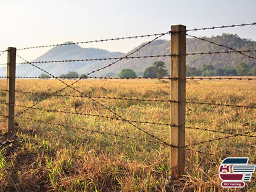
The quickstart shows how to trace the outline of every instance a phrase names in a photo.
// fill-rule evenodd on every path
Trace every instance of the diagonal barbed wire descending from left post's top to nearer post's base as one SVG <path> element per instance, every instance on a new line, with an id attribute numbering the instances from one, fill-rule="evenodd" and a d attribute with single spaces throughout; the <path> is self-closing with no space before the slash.
<path id="1" fill-rule="evenodd" d="M 156 38 L 155 38 L 155 39 L 156 39 Z M 20 57 L 20 56 L 19 56 L 19 57 Z M 22 57 L 20 57 L 20 58 L 23 59 Z M 23 60 L 24 60 L 24 59 L 23 59 Z M 24 61 L 27 62 L 26 60 L 24 60 Z M 48 72 L 45 71 L 44 69 L 41 69 L 40 67 L 38 67 L 38 66 L 36 66 L 36 65 L 34 65 L 34 64 L 30 64 L 30 65 L 32 65 L 32 66 L 34 66 L 35 68 L 38 68 L 38 69 L 40 69 L 41 71 L 44 71 L 44 73 L 47 73 L 47 74 L 49 74 L 50 76 L 54 77 L 52 74 L 48 73 Z M 58 79 L 58 78 L 57 78 L 57 79 Z M 77 91 L 78 93 L 83 94 L 84 96 L 87 96 L 87 94 L 82 93 L 82 92 L 79 91 L 79 90 L 76 90 L 76 88 L 71 87 L 71 85 L 66 84 L 63 80 L 61 80 L 61 79 L 58 79 L 58 80 L 59 80 L 60 82 L 62 82 L 63 84 L 65 84 L 66 87 L 69 87 L 69 88 L 73 89 L 74 91 Z M 105 109 L 108 110 L 109 112 L 112 112 L 114 115 L 118 116 L 118 118 L 123 119 L 123 121 L 126 121 L 126 122 L 129 123 L 131 126 L 135 127 L 136 129 L 140 130 L 141 132 L 144 132 L 146 135 L 149 135 L 150 137 L 155 138 L 156 140 L 161 141 L 162 143 L 167 144 L 167 145 L 169 145 L 169 146 L 177 147 L 177 146 L 171 145 L 171 144 L 169 144 L 169 143 L 166 143 L 166 141 L 163 141 L 161 138 L 158 138 L 158 137 L 156 137 L 155 135 L 152 135 L 151 133 L 147 132 L 146 130 L 143 130 L 143 129 L 141 129 L 140 127 L 136 126 L 135 124 L 133 124 L 133 123 L 127 121 L 127 119 L 123 118 L 123 116 L 118 115 L 116 112 L 114 112 L 114 111 L 111 110 L 110 108 L 105 107 L 105 105 L 101 104 L 101 102 L 96 101 L 96 100 L 93 99 L 93 98 L 90 98 L 90 99 L 91 99 L 91 101 L 96 102 L 96 104 L 101 105 L 103 108 L 105 108 Z"/>

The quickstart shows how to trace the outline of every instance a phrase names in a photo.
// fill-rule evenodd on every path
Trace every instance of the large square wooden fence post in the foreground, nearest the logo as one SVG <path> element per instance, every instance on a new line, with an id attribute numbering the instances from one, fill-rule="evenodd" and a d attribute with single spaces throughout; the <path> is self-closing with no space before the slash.
<path id="1" fill-rule="evenodd" d="M 185 146 L 186 26 L 171 26 L 171 130 L 170 143 Z M 185 173 L 185 149 L 170 147 L 172 176 Z"/>

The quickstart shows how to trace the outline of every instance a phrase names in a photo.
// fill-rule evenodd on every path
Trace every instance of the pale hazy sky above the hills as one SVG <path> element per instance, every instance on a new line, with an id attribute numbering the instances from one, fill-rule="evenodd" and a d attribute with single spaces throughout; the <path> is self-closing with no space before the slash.
<path id="1" fill-rule="evenodd" d="M 167 32 L 171 25 L 187 29 L 256 21 L 255 0 L 152 1 L 152 0 L 0 0 L 0 51 L 9 46 L 56 44 Z M 210 37 L 238 34 L 256 40 L 256 26 L 190 32 Z M 169 40 L 169 35 L 164 37 Z M 82 47 L 128 52 L 151 38 L 81 44 Z M 19 51 L 27 60 L 49 49 Z M 0 62 L 6 62 L 6 54 Z"/>

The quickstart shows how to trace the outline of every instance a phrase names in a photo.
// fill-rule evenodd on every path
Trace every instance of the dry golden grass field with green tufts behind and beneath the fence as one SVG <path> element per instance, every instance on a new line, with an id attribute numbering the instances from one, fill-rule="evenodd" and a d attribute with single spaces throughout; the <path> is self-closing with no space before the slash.
<path id="1" fill-rule="evenodd" d="M 0 88 L 5 86 L 6 80 L 1 80 Z M 90 98 L 52 96 L 44 99 L 46 93 L 62 87 L 65 86 L 57 80 L 16 80 L 17 91 L 38 93 L 15 93 L 16 104 L 30 106 L 43 99 L 35 107 L 115 118 Z M 74 87 L 89 96 L 137 99 L 166 100 L 170 91 L 167 80 L 81 80 Z M 57 94 L 79 96 L 70 88 Z M 255 95 L 254 80 L 187 82 L 187 101 L 256 106 Z M 4 91 L 0 96 L 0 101 L 5 102 Z M 95 100 L 129 120 L 170 123 L 168 102 Z M 16 106 L 15 113 L 24 109 Z M 5 105 L 0 105 L 0 111 L 5 111 Z M 256 129 L 256 109 L 187 104 L 186 111 L 186 126 L 232 133 Z M 27 110 L 15 121 L 20 141 L 13 144 L 12 149 L 1 148 L 0 152 L 2 191 L 226 191 L 221 188 L 218 176 L 224 157 L 249 157 L 250 164 L 256 163 L 255 137 L 230 137 L 188 147 L 194 151 L 186 151 L 186 173 L 175 179 L 169 177 L 169 148 L 144 141 L 155 140 L 127 122 L 38 109 Z M 169 142 L 169 126 L 135 124 Z M 0 125 L 4 127 L 3 117 Z M 186 144 L 224 136 L 227 134 L 186 129 Z M 244 189 L 233 191 L 255 190 L 254 173 Z"/>

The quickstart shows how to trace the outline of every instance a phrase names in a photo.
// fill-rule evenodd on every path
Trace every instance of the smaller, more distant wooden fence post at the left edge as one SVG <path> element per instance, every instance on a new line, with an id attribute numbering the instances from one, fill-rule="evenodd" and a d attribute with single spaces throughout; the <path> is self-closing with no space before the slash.
<path id="1" fill-rule="evenodd" d="M 6 123 L 8 132 L 14 130 L 14 104 L 15 104 L 15 71 L 16 71 L 16 48 L 8 48 L 7 57 L 7 93 L 6 93 Z"/>

